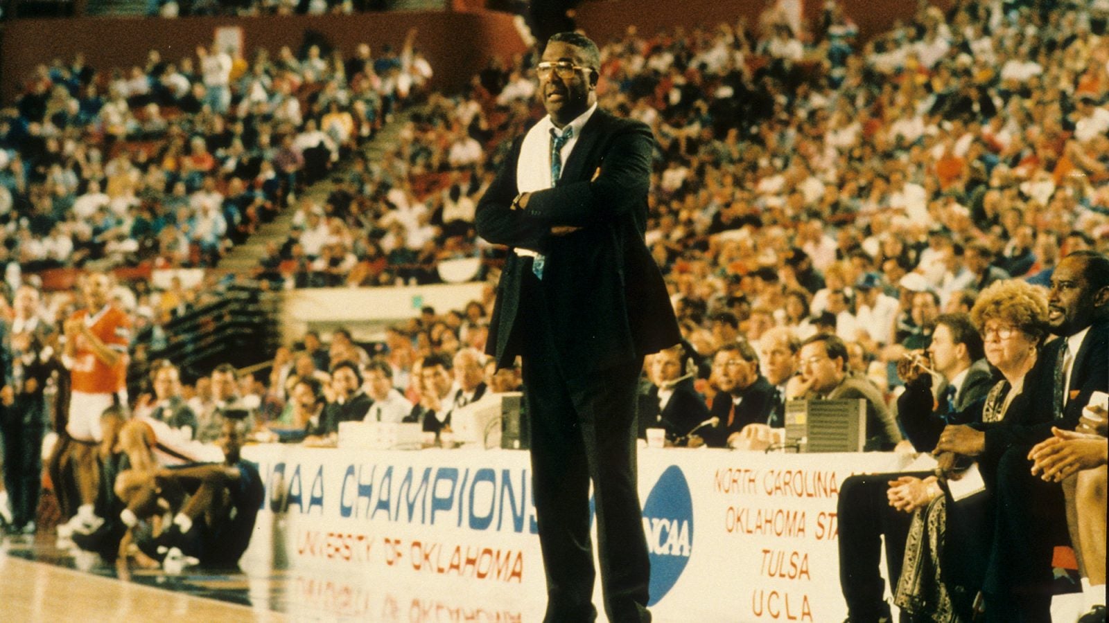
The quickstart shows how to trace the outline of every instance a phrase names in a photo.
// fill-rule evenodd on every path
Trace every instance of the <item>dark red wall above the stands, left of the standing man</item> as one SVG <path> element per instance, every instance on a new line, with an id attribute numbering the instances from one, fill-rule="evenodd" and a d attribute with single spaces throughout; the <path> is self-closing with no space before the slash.
<path id="1" fill-rule="evenodd" d="M 34 67 L 82 51 L 93 68 L 104 71 L 143 64 L 155 48 L 162 58 L 177 61 L 192 55 L 200 43 L 211 44 L 214 29 L 243 28 L 247 58 L 257 48 L 276 53 L 296 49 L 306 30 L 324 33 L 344 54 L 358 43 L 376 53 L 386 43 L 398 48 L 410 28 L 416 44 L 435 70 L 433 86 L 454 90 L 466 84 L 489 57 L 523 51 L 512 17 L 481 12 L 393 12 L 355 16 L 289 16 L 262 18 L 78 18 L 16 20 L 4 24 L 0 41 L 0 99 L 11 102 Z"/>

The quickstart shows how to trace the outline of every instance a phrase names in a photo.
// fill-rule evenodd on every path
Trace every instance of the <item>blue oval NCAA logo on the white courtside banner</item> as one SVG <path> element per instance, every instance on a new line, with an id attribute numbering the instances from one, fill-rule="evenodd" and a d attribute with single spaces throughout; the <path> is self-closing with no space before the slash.
<path id="1" fill-rule="evenodd" d="M 651 601 L 659 603 L 678 583 L 693 552 L 693 500 L 678 466 L 662 472 L 643 504 L 643 532 L 651 556 Z"/>

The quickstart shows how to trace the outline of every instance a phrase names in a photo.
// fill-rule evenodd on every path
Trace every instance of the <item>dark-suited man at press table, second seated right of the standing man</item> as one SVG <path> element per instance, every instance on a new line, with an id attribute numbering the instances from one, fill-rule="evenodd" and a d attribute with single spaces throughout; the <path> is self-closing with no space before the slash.
<path id="1" fill-rule="evenodd" d="M 701 430 L 706 446 L 725 448 L 739 439 L 743 427 L 770 423 L 774 411 L 774 386 L 759 374 L 759 355 L 745 339 L 726 344 L 712 359 L 716 396 L 711 415 L 720 421 Z"/>

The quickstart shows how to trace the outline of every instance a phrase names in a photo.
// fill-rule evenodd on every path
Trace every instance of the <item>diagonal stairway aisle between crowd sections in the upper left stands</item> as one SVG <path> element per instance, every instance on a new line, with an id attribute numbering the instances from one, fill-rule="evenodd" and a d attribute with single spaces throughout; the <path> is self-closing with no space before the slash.
<path id="1" fill-rule="evenodd" d="M 393 116 L 393 121 L 386 123 L 378 130 L 377 134 L 365 145 L 362 151 L 368 162 L 378 162 L 384 156 L 387 149 L 396 143 L 397 136 L 404 129 L 405 123 L 411 119 L 411 111 L 406 110 Z M 319 205 L 327 201 L 334 184 L 332 176 L 344 172 L 349 163 L 339 163 L 338 167 L 328 173 L 326 177 L 304 190 L 304 195 Z M 296 214 L 297 197 L 293 205 L 285 206 L 284 210 L 269 223 L 262 224 L 257 231 L 241 245 L 232 247 L 216 266 L 221 270 L 235 274 L 252 273 L 266 256 L 266 244 L 274 242 L 281 246 L 288 237 L 289 229 L 293 228 L 293 215 Z"/>

